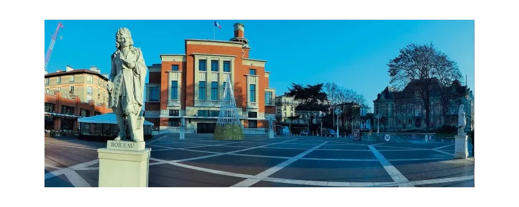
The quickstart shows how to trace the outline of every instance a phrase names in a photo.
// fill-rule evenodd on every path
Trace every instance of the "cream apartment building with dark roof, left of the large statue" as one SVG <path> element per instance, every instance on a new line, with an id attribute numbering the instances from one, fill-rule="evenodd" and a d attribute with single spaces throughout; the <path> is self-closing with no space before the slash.
<path id="1" fill-rule="evenodd" d="M 59 91 L 87 102 L 93 100 L 97 103 L 106 103 L 108 101 L 106 91 L 108 75 L 101 75 L 100 71 L 97 67 L 73 69 L 70 66 L 66 66 L 64 71 L 57 70 L 50 73 L 44 71 L 44 90 L 49 94 Z"/>

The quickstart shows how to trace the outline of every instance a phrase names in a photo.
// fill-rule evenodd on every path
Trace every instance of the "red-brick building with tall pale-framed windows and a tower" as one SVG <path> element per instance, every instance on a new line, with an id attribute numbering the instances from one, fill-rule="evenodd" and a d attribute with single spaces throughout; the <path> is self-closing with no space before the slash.
<path id="1" fill-rule="evenodd" d="M 148 66 L 144 116 L 162 132 L 213 133 L 226 78 L 234 90 L 245 133 L 268 130 L 274 117 L 274 88 L 269 87 L 266 61 L 249 57 L 244 25 L 234 24 L 229 41 L 185 39 L 185 54 L 161 54 L 160 64 Z"/>

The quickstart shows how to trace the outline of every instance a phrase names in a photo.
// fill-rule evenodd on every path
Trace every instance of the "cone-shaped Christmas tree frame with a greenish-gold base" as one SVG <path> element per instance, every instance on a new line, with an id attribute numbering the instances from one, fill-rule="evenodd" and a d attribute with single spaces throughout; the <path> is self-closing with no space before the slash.
<path id="1" fill-rule="evenodd" d="M 236 108 L 236 100 L 234 99 L 233 85 L 230 82 L 230 76 L 226 77 L 224 89 L 224 98 L 218 121 L 214 129 L 214 137 L 216 140 L 243 140 L 243 125 L 240 122 L 240 116 Z"/>

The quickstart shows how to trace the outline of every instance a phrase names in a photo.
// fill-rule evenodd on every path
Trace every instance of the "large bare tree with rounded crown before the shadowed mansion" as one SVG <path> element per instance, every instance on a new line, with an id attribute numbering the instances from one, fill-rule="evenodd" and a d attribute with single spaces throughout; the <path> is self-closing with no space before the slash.
<path id="1" fill-rule="evenodd" d="M 431 92 L 438 85 L 439 73 L 446 68 L 445 57 L 432 43 L 412 43 L 400 49 L 399 56 L 388 63 L 390 84 L 397 89 L 406 87 L 406 97 L 414 97 L 420 108 L 425 109 L 427 130 L 430 129 Z"/>

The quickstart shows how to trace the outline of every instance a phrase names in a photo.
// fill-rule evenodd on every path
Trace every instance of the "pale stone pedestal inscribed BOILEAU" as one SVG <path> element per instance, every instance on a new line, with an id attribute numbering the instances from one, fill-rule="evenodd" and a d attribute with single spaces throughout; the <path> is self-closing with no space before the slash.
<path id="1" fill-rule="evenodd" d="M 149 155 L 145 142 L 107 142 L 98 149 L 99 188 L 147 188 Z"/>

